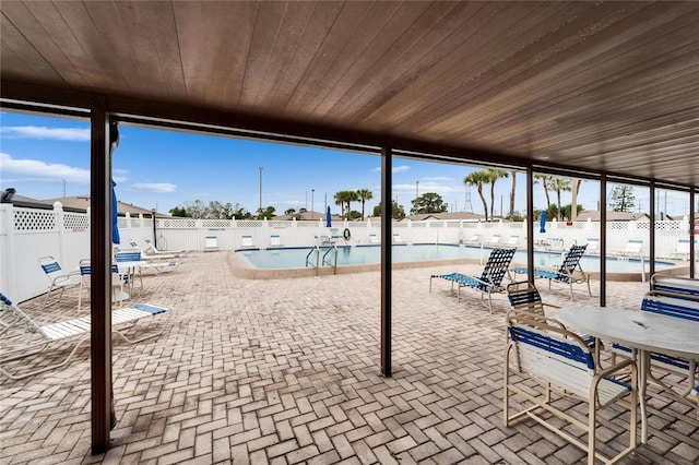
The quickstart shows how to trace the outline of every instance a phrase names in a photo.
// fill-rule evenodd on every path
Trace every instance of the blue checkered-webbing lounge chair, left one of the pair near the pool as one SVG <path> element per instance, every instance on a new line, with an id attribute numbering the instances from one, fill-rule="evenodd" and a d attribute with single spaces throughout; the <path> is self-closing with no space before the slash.
<path id="1" fill-rule="evenodd" d="M 434 274 L 429 277 L 429 291 L 433 290 L 433 279 L 440 278 L 451 282 L 451 289 L 453 291 L 454 283 L 459 286 L 457 289 L 457 297 L 461 300 L 461 288 L 470 287 L 481 291 L 481 298 L 484 295 L 488 295 L 488 308 L 493 313 L 493 294 L 505 291 L 502 287 L 502 278 L 508 273 L 508 267 L 514 257 L 517 249 L 495 248 L 490 251 L 488 262 L 485 264 L 485 269 L 481 276 L 470 276 L 461 273 L 449 274 Z"/>

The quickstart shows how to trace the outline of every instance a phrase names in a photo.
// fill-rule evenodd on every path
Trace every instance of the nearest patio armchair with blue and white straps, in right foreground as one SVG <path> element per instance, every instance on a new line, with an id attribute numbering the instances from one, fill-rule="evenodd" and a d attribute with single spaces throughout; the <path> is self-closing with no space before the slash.
<path id="1" fill-rule="evenodd" d="M 505 390 L 502 413 L 505 426 L 520 418 L 536 420 L 549 431 L 577 448 L 587 451 L 587 463 L 595 458 L 616 463 L 636 451 L 638 428 L 638 369 L 632 360 L 625 360 L 606 369 L 599 367 L 599 358 L 577 334 L 560 329 L 555 321 L 541 321 L 517 313 L 507 318 L 508 341 L 505 351 Z M 621 382 L 620 378 L 630 381 Z M 517 402 L 510 397 L 517 395 Z M 625 402 L 625 397 L 629 397 Z M 561 402 L 562 401 L 562 402 Z M 571 409 L 571 402 L 584 402 L 585 414 Z M 606 448 L 616 454 L 603 456 L 596 448 L 597 409 L 621 403 L 628 408 L 628 446 L 621 451 Z M 516 408 L 516 413 L 510 413 Z M 541 415 L 540 415 L 541 414 Z M 554 415 L 555 419 L 550 416 Z M 577 429 L 587 433 L 580 439 Z M 616 422 L 615 422 L 616 426 Z M 584 442 L 583 442 L 584 441 Z"/>

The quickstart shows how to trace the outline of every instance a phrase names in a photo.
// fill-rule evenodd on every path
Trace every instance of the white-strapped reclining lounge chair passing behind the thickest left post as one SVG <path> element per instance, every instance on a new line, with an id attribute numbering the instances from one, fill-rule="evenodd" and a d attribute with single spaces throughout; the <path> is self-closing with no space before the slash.
<path id="1" fill-rule="evenodd" d="M 90 341 L 91 334 L 91 319 L 90 317 L 82 317 L 72 320 L 61 321 L 59 323 L 40 325 L 36 323 L 32 318 L 20 310 L 20 308 L 12 303 L 12 301 L 5 297 L 2 293 L 0 293 L 0 308 L 3 312 L 9 312 L 13 315 L 14 320 L 7 327 L 4 327 L 0 332 L 0 347 L 5 349 L 7 347 L 14 345 L 21 345 L 21 347 L 16 347 L 13 349 L 2 350 L 0 354 L 0 373 L 3 375 L 13 379 L 21 380 L 23 378 L 27 378 L 37 373 L 42 373 L 44 371 L 54 370 L 56 368 L 60 368 L 68 363 L 71 357 L 75 354 L 78 348 L 85 341 Z M 165 323 L 163 322 L 161 330 L 154 333 L 146 334 L 145 336 L 141 336 L 139 338 L 132 339 L 123 334 L 123 331 L 133 327 L 138 320 L 155 317 L 157 314 L 167 314 L 167 319 L 171 317 L 171 311 L 168 308 L 156 306 L 153 303 L 137 303 L 127 308 L 121 308 L 118 310 L 111 311 L 111 325 L 112 327 L 121 326 L 128 324 L 128 326 L 120 330 L 112 330 L 115 334 L 119 335 L 126 342 L 130 344 L 140 343 L 145 339 L 150 339 L 152 337 L 158 336 L 165 330 Z M 25 331 L 14 331 L 19 330 L 20 326 L 24 326 Z M 44 350 L 50 343 L 59 342 L 63 339 L 74 338 L 75 345 L 70 350 L 68 356 L 61 360 L 60 362 L 52 363 L 49 366 L 43 366 L 33 371 L 16 373 L 9 371 L 8 362 L 13 360 L 20 360 L 25 357 L 36 355 Z"/>

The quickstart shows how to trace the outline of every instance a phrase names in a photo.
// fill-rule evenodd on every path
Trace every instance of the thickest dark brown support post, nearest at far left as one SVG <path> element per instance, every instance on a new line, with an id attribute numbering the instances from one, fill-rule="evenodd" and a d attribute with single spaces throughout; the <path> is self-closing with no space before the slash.
<path id="1" fill-rule="evenodd" d="M 106 98 L 91 108 L 91 383 L 92 453 L 109 449 L 111 406 L 111 164 Z"/>

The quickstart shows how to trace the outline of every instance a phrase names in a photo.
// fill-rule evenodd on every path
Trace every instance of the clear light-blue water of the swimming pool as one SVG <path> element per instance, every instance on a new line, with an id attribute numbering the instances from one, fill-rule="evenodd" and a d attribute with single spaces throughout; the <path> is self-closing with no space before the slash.
<path id="1" fill-rule="evenodd" d="M 321 249 L 321 258 L 328 248 Z M 360 247 L 339 247 L 337 248 L 337 265 L 362 265 L 380 263 L 379 246 L 360 246 Z M 250 264 L 258 269 L 303 269 L 306 267 L 306 257 L 311 248 L 286 248 L 286 249 L 266 249 L 266 250 L 237 250 L 238 255 L 244 257 Z M 481 259 L 487 260 L 490 248 L 484 247 L 464 247 L 455 245 L 408 245 L 393 246 L 393 262 L 420 262 L 430 260 L 449 260 L 449 259 Z M 332 257 L 330 252 L 328 257 Z M 311 254 L 315 262 L 315 253 Z M 534 252 L 534 264 L 536 266 L 557 266 L 560 263 L 560 252 Z M 526 263 L 526 251 L 518 250 L 514 253 L 514 263 Z M 580 260 L 582 270 L 587 272 L 600 271 L 600 258 L 595 255 L 584 255 Z M 673 266 L 672 262 L 655 262 L 655 269 Z M 648 262 L 645 262 L 648 270 Z M 640 273 L 641 263 L 638 259 L 618 259 L 607 257 L 608 273 Z"/>

